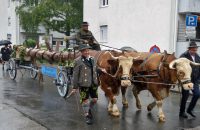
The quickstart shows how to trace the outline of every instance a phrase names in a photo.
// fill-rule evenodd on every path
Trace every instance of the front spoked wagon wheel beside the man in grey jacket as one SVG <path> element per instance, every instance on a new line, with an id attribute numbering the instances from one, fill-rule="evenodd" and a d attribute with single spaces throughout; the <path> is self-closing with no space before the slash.
<path id="1" fill-rule="evenodd" d="M 62 71 L 58 73 L 56 86 L 60 96 L 65 98 L 69 92 L 69 84 L 68 79 Z"/>

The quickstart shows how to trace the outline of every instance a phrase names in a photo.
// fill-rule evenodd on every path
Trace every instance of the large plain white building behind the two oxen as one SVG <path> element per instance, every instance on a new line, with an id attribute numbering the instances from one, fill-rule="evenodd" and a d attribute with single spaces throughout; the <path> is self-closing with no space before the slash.
<path id="1" fill-rule="evenodd" d="M 188 45 L 185 16 L 200 12 L 197 5 L 199 0 L 84 0 L 84 21 L 100 43 L 138 51 L 157 45 L 179 56 Z"/>

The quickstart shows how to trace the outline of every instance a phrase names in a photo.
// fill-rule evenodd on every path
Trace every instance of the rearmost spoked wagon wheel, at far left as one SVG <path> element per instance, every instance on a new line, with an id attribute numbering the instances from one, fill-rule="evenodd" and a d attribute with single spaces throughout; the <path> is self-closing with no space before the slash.
<path id="1" fill-rule="evenodd" d="M 9 68 L 8 68 L 9 76 L 12 80 L 14 80 L 17 76 L 17 68 L 15 64 L 15 60 L 9 60 Z"/>

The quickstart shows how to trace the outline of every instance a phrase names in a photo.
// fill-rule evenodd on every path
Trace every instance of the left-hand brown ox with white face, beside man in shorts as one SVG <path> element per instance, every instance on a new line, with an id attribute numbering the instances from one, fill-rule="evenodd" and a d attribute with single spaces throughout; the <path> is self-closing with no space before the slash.
<path id="1" fill-rule="evenodd" d="M 101 51 L 96 54 L 95 59 L 100 68 L 105 68 L 106 73 L 99 75 L 101 89 L 108 97 L 108 112 L 113 116 L 119 116 L 120 112 L 116 105 L 116 95 L 120 87 L 131 86 L 131 68 L 136 58 L 127 56 L 126 53 L 115 51 Z"/>

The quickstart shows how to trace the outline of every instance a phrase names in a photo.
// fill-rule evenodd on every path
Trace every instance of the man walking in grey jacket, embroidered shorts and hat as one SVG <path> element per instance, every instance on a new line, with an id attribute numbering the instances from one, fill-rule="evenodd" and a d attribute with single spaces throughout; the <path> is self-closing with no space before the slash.
<path id="1" fill-rule="evenodd" d="M 97 68 L 94 58 L 90 56 L 89 49 L 91 49 L 91 47 L 87 44 L 80 44 L 79 46 L 81 56 L 75 59 L 73 70 L 74 86 L 72 92 L 76 92 L 77 89 L 79 89 L 80 102 L 85 113 L 86 123 L 92 124 L 93 116 L 91 109 L 96 104 L 98 99 L 97 74 L 100 74 L 100 72 L 105 72 L 105 69 Z"/>

